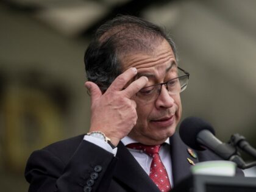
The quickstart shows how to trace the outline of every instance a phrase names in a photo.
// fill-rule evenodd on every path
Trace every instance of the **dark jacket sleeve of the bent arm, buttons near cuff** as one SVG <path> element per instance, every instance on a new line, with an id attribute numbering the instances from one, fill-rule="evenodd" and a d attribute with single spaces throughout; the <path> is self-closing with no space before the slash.
<path id="1" fill-rule="evenodd" d="M 34 191 L 107 191 L 117 158 L 88 141 L 82 141 L 67 163 L 48 148 L 33 152 L 25 177 Z"/>

